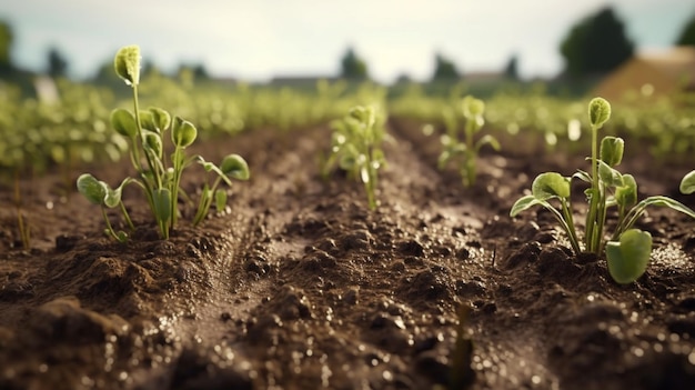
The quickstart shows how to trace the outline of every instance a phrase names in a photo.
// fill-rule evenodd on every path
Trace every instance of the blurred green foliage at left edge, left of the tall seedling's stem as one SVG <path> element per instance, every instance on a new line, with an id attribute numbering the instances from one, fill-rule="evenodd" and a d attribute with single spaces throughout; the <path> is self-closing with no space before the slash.
<path id="1" fill-rule="evenodd" d="M 52 81 L 44 80 L 53 86 Z M 0 86 L 0 173 L 41 174 L 79 163 L 114 162 L 128 148 L 104 118 L 113 96 L 98 88 L 58 80 L 58 100 L 21 99 Z"/>

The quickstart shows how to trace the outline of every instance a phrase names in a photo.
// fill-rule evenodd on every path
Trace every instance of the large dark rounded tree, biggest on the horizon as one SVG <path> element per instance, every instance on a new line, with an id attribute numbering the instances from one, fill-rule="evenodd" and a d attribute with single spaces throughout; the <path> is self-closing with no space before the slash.
<path id="1" fill-rule="evenodd" d="M 560 52 L 565 72 L 581 77 L 605 73 L 629 59 L 634 44 L 611 7 L 581 20 L 563 39 Z"/>

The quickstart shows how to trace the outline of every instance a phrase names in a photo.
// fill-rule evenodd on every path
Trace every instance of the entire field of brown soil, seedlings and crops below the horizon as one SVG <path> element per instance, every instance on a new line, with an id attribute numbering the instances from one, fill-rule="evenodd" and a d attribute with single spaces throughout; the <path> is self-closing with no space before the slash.
<path id="1" fill-rule="evenodd" d="M 0 389 L 692 389 L 695 106 L 0 84 Z"/>

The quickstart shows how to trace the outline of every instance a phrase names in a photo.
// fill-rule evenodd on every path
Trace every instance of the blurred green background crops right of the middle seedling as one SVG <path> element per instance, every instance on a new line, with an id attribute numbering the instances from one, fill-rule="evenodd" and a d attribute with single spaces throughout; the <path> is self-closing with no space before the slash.
<path id="1" fill-rule="evenodd" d="M 414 86 L 395 100 L 389 111 L 421 122 L 449 127 L 447 121 L 463 122 L 456 110 L 465 86 L 451 89 L 449 96 L 429 96 Z M 687 158 L 695 151 L 695 102 L 692 97 L 646 99 L 633 97 L 616 101 L 615 114 L 604 131 L 649 146 L 657 158 Z M 486 99 L 485 120 L 490 128 L 505 137 L 523 136 L 515 144 L 537 140 L 547 148 L 584 150 L 590 123 L 583 99 L 558 98 L 545 93 L 542 86 L 530 91 L 503 90 Z M 507 142 L 508 143 L 508 142 Z"/>

